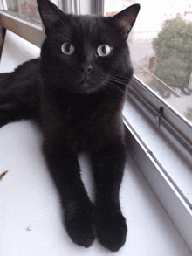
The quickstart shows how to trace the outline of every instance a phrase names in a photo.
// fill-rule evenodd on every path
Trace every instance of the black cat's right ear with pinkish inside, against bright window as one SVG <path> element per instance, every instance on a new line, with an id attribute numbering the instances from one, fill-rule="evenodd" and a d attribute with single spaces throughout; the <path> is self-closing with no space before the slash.
<path id="1" fill-rule="evenodd" d="M 125 39 L 127 39 L 131 31 L 139 11 L 140 4 L 134 4 L 112 17 L 113 23 L 117 24 L 123 31 L 123 37 Z"/>

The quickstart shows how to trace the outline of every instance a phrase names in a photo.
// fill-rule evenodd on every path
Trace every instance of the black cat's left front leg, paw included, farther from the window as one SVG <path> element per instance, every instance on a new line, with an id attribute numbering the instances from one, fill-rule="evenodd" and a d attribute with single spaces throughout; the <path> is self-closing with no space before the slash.
<path id="1" fill-rule="evenodd" d="M 93 204 L 81 181 L 77 156 L 58 148 L 46 142 L 44 152 L 65 210 L 65 227 L 75 244 L 89 247 L 94 240 Z"/>

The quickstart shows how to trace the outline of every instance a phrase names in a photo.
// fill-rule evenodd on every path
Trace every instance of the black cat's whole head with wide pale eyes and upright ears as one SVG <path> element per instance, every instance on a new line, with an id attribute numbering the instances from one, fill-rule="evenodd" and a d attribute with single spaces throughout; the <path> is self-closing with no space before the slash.
<path id="1" fill-rule="evenodd" d="M 127 47 L 139 4 L 113 17 L 74 16 L 38 0 L 47 38 L 41 57 L 47 82 L 70 93 L 123 86 L 133 74 Z"/>

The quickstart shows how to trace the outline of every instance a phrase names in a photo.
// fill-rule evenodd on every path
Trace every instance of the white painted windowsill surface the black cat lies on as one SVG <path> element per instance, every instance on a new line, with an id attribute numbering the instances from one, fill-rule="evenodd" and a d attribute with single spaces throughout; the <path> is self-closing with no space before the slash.
<path id="1" fill-rule="evenodd" d="M 12 70 L 31 55 L 32 58 L 38 55 L 35 51 L 34 55 L 25 55 L 24 46 L 17 54 L 18 49 L 16 52 L 10 49 L 10 33 L 7 38 L 1 72 Z M 57 190 L 46 168 L 41 143 L 41 133 L 31 121 L 10 123 L 0 129 L 0 174 L 8 170 L 0 182 L 1 256 L 192 255 L 129 158 L 120 192 L 129 230 L 126 245 L 118 253 L 107 251 L 97 240 L 88 249 L 74 245 L 62 225 Z M 93 197 L 86 156 L 80 157 L 80 163 L 86 189 Z"/>

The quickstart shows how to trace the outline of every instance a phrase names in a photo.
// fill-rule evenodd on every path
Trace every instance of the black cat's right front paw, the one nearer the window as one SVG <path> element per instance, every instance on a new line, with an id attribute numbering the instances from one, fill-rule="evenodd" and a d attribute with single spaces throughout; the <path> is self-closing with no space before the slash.
<path id="1" fill-rule="evenodd" d="M 126 242 L 127 224 L 126 218 L 120 211 L 111 212 L 108 215 L 96 211 L 95 230 L 99 243 L 112 252 L 119 251 Z"/>

